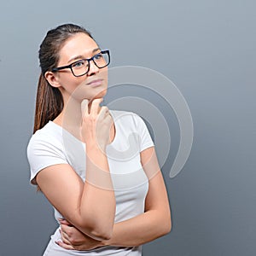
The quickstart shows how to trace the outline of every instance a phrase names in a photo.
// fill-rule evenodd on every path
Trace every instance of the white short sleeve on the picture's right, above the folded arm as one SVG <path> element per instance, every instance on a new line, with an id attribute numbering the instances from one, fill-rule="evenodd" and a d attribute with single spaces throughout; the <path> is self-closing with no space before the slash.
<path id="1" fill-rule="evenodd" d="M 150 137 L 148 127 L 143 121 L 143 119 L 136 114 L 137 120 L 137 132 L 140 137 L 140 152 L 142 152 L 146 148 L 154 147 L 154 142 Z"/>

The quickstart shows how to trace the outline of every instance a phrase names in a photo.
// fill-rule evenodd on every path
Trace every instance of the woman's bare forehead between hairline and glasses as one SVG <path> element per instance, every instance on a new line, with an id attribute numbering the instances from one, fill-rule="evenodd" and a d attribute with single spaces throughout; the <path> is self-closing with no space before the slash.
<path id="1" fill-rule="evenodd" d="M 90 57 L 93 49 L 97 47 L 96 42 L 85 33 L 74 34 L 62 45 L 59 51 L 59 62 L 68 61 L 76 55 L 83 55 L 84 58 Z"/>

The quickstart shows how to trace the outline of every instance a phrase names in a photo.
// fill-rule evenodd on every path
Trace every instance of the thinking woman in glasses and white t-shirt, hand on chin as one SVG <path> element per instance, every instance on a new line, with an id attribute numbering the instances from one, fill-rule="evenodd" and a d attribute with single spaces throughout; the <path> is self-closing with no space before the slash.
<path id="1" fill-rule="evenodd" d="M 60 224 L 44 255 L 142 255 L 171 230 L 171 213 L 143 119 L 101 106 L 109 51 L 65 24 L 47 33 L 39 61 L 27 156 Z"/>

